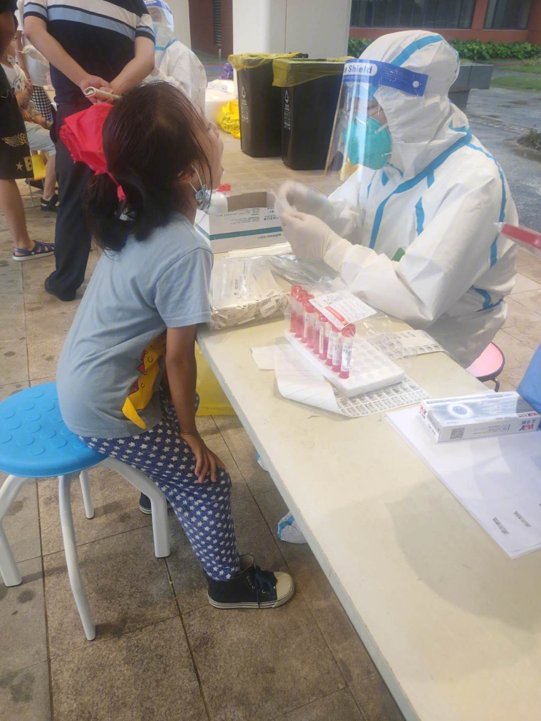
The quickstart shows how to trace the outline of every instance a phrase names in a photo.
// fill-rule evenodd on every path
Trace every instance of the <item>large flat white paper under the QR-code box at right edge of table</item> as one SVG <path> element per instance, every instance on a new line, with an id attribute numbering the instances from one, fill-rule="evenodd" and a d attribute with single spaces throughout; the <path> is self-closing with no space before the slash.
<path id="1" fill-rule="evenodd" d="M 541 549 L 541 432 L 434 443 L 418 413 L 387 420 L 506 554 Z"/>

